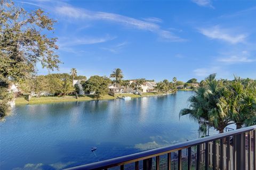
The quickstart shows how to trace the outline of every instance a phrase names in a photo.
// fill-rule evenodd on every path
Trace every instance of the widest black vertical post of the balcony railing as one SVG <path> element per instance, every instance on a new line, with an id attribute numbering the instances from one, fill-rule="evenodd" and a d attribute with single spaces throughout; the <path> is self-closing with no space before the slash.
<path id="1" fill-rule="evenodd" d="M 244 133 L 237 134 L 235 140 L 236 169 L 244 169 Z"/>

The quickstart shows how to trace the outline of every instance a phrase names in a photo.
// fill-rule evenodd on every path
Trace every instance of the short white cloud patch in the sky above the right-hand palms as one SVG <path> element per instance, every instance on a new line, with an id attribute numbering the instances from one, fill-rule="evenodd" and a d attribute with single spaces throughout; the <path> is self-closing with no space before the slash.
<path id="1" fill-rule="evenodd" d="M 246 38 L 245 34 L 231 35 L 230 32 L 232 30 L 222 29 L 219 25 L 210 28 L 201 28 L 199 31 L 206 37 L 227 41 L 231 44 L 244 43 Z"/>

